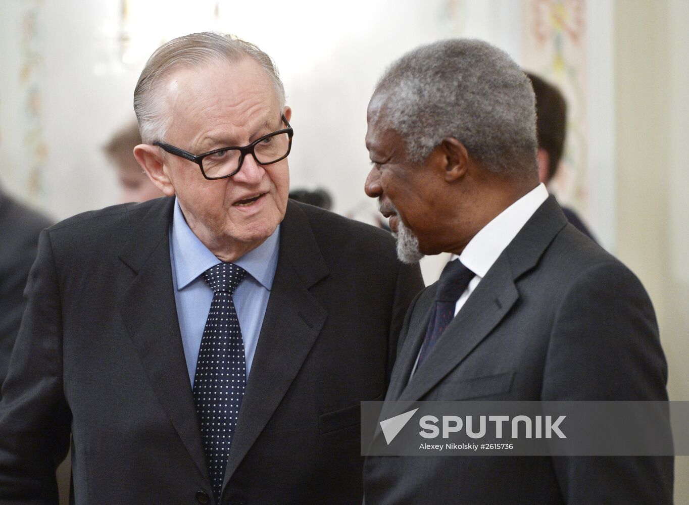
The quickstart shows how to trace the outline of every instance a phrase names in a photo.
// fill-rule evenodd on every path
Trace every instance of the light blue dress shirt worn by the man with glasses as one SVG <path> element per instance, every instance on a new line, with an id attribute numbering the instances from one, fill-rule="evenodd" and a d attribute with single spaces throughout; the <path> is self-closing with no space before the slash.
<path id="1" fill-rule="evenodd" d="M 203 279 L 203 272 L 218 265 L 220 260 L 194 235 L 176 200 L 169 236 L 177 318 L 182 333 L 189 380 L 193 388 L 198 349 L 201 346 L 203 328 L 213 301 L 213 291 Z M 280 226 L 263 244 L 234 261 L 235 265 L 247 271 L 247 276 L 232 296 L 244 340 L 247 379 L 251 371 L 251 362 L 254 361 L 270 290 L 273 287 L 275 269 L 278 266 L 279 245 Z"/>

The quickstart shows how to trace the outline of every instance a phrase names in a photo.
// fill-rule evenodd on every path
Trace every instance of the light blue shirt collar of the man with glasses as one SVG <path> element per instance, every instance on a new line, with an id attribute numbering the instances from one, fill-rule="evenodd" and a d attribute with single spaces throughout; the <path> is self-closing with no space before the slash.
<path id="1" fill-rule="evenodd" d="M 170 239 L 172 240 L 174 275 L 176 276 L 178 291 L 187 287 L 190 282 L 207 269 L 220 263 L 220 260 L 198 240 L 198 237 L 189 228 L 176 198 Z M 275 269 L 278 265 L 279 245 L 280 226 L 278 225 L 263 244 L 234 261 L 234 265 L 245 269 L 247 274 L 270 291 L 273 287 Z"/>

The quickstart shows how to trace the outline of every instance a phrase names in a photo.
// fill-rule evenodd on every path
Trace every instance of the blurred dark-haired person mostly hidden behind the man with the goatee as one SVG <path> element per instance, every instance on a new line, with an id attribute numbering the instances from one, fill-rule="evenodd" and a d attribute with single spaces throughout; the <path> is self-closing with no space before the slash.
<path id="1" fill-rule="evenodd" d="M 538 178 L 548 186 L 559 168 L 567 136 L 567 102 L 560 90 L 545 79 L 526 72 L 536 96 L 536 134 L 538 138 Z M 593 234 L 576 212 L 560 205 L 567 220 L 595 241 Z"/>

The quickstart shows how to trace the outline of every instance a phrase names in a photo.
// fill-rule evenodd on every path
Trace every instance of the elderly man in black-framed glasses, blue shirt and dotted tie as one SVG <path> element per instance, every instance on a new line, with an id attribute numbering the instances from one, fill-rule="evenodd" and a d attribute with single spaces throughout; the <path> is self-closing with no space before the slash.
<path id="1" fill-rule="evenodd" d="M 136 159 L 167 196 L 41 236 L 0 404 L 0 502 L 359 504 L 360 402 L 382 399 L 422 288 L 393 238 L 289 201 L 278 72 L 245 41 L 159 48 Z"/>

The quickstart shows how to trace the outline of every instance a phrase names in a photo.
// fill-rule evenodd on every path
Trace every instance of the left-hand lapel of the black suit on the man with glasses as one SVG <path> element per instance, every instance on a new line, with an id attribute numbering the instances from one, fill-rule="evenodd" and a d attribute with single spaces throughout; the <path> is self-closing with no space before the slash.
<path id="1" fill-rule="evenodd" d="M 168 229 L 173 205 L 174 198 L 156 200 L 120 254 L 136 274 L 120 309 L 158 400 L 207 479 L 172 286 Z"/>

